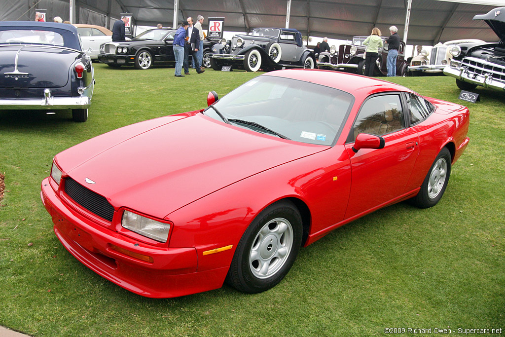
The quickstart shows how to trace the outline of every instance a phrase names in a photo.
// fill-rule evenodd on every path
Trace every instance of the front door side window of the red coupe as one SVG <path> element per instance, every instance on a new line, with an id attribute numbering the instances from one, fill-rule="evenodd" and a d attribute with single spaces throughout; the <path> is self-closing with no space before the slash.
<path id="1" fill-rule="evenodd" d="M 383 135 L 405 127 L 401 111 L 400 96 L 382 95 L 368 99 L 361 107 L 354 123 L 354 134 L 348 140 L 354 141 L 360 133 Z"/>

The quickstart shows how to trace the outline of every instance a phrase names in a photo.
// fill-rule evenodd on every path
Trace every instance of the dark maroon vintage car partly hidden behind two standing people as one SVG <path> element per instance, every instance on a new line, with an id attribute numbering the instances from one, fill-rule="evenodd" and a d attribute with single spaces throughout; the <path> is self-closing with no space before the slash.
<path id="1" fill-rule="evenodd" d="M 355 36 L 352 42 L 341 44 L 338 51 L 335 47 L 330 48 L 330 52 L 323 52 L 319 55 L 319 69 L 333 69 L 363 75 L 365 73 L 365 50 L 363 42 L 368 36 Z M 387 37 L 382 36 L 383 47 L 379 49 L 374 76 L 386 76 L 387 67 Z M 398 57 L 396 59 L 396 75 L 407 75 L 408 63 L 405 61 L 405 42 L 400 41 Z"/>

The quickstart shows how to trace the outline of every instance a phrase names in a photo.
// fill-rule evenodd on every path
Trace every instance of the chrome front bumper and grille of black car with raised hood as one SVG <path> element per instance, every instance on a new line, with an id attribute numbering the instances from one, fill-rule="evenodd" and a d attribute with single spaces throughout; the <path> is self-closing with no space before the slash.
<path id="1" fill-rule="evenodd" d="M 443 73 L 460 81 L 481 85 L 485 88 L 505 90 L 505 68 L 495 63 L 476 58 L 451 60 Z"/>

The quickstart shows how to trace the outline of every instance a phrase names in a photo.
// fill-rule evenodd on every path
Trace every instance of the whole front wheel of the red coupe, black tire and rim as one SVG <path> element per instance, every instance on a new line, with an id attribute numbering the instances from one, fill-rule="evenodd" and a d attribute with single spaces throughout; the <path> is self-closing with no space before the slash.
<path id="1" fill-rule="evenodd" d="M 288 273 L 301 247 L 301 216 L 289 201 L 270 205 L 252 220 L 237 245 L 226 281 L 238 291 L 261 293 Z"/>

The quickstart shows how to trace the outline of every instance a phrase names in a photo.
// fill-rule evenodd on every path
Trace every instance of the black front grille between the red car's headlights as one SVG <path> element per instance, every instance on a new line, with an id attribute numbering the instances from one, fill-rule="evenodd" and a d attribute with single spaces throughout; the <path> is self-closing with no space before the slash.
<path id="1" fill-rule="evenodd" d="M 72 178 L 65 180 L 65 193 L 93 214 L 112 221 L 114 207 L 104 197 L 87 189 Z"/>

